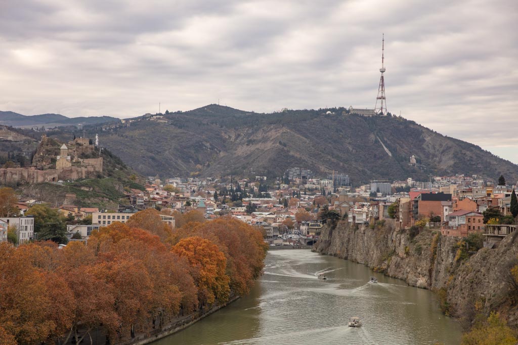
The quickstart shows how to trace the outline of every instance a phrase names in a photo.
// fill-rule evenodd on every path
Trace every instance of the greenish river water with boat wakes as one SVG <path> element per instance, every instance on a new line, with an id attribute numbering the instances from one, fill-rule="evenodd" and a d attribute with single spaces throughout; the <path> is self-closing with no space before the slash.
<path id="1" fill-rule="evenodd" d="M 305 249 L 271 250 L 264 272 L 249 295 L 153 345 L 460 342 L 461 328 L 441 314 L 433 293 L 364 265 Z M 348 327 L 352 316 L 363 325 Z"/>

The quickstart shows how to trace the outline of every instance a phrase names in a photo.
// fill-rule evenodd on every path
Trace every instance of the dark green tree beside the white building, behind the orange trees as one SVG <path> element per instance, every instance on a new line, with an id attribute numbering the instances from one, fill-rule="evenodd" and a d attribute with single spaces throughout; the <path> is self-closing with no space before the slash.
<path id="1" fill-rule="evenodd" d="M 63 244 L 68 242 L 65 222 L 55 209 L 44 204 L 34 205 L 25 215 L 34 216 L 34 233 L 39 240 L 50 239 Z"/>

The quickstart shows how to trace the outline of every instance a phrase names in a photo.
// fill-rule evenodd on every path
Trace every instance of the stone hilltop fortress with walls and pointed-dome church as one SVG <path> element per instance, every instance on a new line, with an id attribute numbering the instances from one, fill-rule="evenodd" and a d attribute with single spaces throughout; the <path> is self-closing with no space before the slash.
<path id="1" fill-rule="evenodd" d="M 24 183 L 56 182 L 66 179 L 95 177 L 103 171 L 103 158 L 96 156 L 91 140 L 77 138 L 62 144 L 43 136 L 38 145 L 32 165 L 24 168 L 0 168 L 0 184 L 19 185 Z"/>

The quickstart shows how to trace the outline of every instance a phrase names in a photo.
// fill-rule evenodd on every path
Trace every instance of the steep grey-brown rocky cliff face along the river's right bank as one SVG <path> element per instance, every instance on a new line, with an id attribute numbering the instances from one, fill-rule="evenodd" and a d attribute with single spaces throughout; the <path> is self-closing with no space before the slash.
<path id="1" fill-rule="evenodd" d="M 325 227 L 313 250 L 366 264 L 411 286 L 438 294 L 445 313 L 469 325 L 477 313 L 500 311 L 518 326 L 518 306 L 509 269 L 518 263 L 518 233 L 498 248 L 468 253 L 458 237 L 439 231 L 396 230 L 393 223 L 375 229 L 340 222 Z"/>

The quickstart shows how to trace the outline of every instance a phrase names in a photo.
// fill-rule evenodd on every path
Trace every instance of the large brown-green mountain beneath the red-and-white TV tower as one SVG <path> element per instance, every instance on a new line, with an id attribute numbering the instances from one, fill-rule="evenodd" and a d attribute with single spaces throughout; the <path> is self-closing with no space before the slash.
<path id="1" fill-rule="evenodd" d="M 102 145 L 144 175 L 279 177 L 300 167 L 320 176 L 349 173 L 355 185 L 455 173 L 518 179 L 516 164 L 479 146 L 401 117 L 365 117 L 344 108 L 259 114 L 211 104 L 85 129 L 90 136 L 99 132 Z"/>

